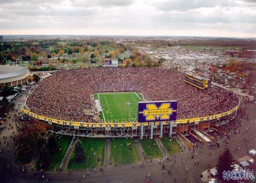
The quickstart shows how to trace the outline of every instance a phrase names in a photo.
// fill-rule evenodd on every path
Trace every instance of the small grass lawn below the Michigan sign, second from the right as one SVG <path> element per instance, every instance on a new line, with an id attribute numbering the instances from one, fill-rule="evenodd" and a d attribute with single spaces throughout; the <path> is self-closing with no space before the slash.
<path id="1" fill-rule="evenodd" d="M 146 138 L 140 140 L 140 145 L 147 160 L 161 158 L 163 156 L 155 139 Z M 151 155 L 151 157 L 150 157 Z"/>

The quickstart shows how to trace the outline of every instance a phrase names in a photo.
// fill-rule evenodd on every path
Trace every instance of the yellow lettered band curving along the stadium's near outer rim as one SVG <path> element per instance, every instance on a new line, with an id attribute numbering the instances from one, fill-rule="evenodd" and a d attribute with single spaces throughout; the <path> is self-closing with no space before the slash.
<path id="1" fill-rule="evenodd" d="M 195 123 L 195 122 L 203 122 L 203 121 L 209 121 L 209 120 L 215 120 L 215 119 L 220 119 L 223 117 L 227 117 L 230 114 L 236 113 L 239 105 L 237 107 L 234 107 L 230 111 L 226 111 L 220 114 L 216 114 L 213 116 L 206 116 L 206 117 L 201 117 L 201 118 L 190 118 L 190 119 L 178 119 L 176 120 L 176 124 L 185 124 L 189 121 L 190 124 Z M 39 116 L 37 114 L 34 114 L 24 108 L 21 108 L 21 111 L 24 114 L 27 114 L 28 116 L 31 116 L 34 119 L 37 120 L 43 120 L 47 123 L 55 123 L 57 125 L 70 125 L 70 126 L 78 126 L 78 127 L 139 127 L 140 123 L 139 122 L 118 122 L 118 123 L 84 123 L 84 122 L 76 122 L 76 121 L 66 121 L 66 120 L 57 120 L 53 118 L 47 118 L 45 116 Z M 160 122 L 154 122 L 154 125 L 159 125 Z M 164 121 L 163 125 L 169 125 L 169 121 Z M 145 122 L 144 126 L 149 126 L 151 125 L 150 122 Z"/>

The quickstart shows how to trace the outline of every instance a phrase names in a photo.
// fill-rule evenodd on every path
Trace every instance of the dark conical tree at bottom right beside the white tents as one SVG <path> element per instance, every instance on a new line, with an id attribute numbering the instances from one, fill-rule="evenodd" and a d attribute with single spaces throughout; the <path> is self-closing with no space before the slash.
<path id="1" fill-rule="evenodd" d="M 232 171 L 231 165 L 233 164 L 234 158 L 232 157 L 232 154 L 230 153 L 229 149 L 227 149 L 222 155 L 220 155 L 218 162 L 216 164 L 218 176 L 221 180 L 223 180 L 223 171 Z"/>

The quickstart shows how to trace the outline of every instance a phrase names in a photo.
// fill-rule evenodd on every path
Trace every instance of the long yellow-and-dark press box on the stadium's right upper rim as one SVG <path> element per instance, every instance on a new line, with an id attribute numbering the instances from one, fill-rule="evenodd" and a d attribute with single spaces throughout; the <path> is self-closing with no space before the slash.
<path id="1" fill-rule="evenodd" d="M 204 90 L 211 88 L 211 80 L 195 74 L 185 73 L 185 82 Z"/>

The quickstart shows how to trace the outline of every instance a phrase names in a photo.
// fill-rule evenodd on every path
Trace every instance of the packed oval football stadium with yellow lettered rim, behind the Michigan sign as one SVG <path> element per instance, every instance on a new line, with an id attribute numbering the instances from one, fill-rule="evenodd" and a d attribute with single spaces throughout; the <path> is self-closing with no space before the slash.
<path id="1" fill-rule="evenodd" d="M 181 72 L 145 67 L 63 70 L 40 82 L 22 111 L 49 130 L 78 136 L 197 137 L 212 129 L 223 132 L 219 126 L 235 118 L 239 98 L 216 86 L 195 87 L 199 80 L 189 77 L 185 82 Z M 137 121 L 138 102 L 166 100 L 178 101 L 177 120 Z"/>

